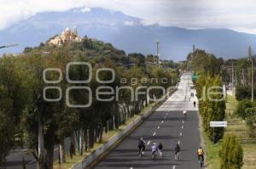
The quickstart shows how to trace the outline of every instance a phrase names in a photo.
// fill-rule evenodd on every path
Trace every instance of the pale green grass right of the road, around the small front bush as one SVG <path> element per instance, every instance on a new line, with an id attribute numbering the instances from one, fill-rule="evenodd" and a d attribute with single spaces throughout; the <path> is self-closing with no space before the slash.
<path id="1" fill-rule="evenodd" d="M 234 133 L 241 142 L 243 149 L 243 166 L 242 169 L 255 169 L 256 168 L 256 138 L 249 138 L 247 134 L 247 125 L 241 118 L 234 117 L 233 113 L 236 110 L 237 101 L 234 97 L 227 95 L 226 102 L 226 121 L 228 127 L 225 133 Z M 222 140 L 218 144 L 212 144 L 206 133 L 203 132 L 203 138 L 207 151 L 207 164 L 208 169 L 219 168 L 218 151 L 221 148 Z"/>

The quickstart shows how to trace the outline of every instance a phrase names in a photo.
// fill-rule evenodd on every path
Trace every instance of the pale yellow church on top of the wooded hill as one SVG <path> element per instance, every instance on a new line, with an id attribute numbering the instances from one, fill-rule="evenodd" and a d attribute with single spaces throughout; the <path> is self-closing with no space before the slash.
<path id="1" fill-rule="evenodd" d="M 50 39 L 48 43 L 50 45 L 61 46 L 65 42 L 81 42 L 83 39 L 84 37 L 79 37 L 77 28 L 71 30 L 69 27 L 67 27 L 65 31 L 62 31 L 60 35 Z"/>

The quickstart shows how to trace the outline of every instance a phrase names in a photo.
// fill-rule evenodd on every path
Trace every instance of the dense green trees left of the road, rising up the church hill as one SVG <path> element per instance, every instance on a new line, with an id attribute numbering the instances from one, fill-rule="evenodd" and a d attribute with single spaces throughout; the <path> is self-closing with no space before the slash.
<path id="1" fill-rule="evenodd" d="M 47 51 L 47 52 L 45 52 Z M 65 162 L 65 140 L 69 138 L 69 154 L 83 155 L 83 151 L 92 149 L 95 143 L 102 142 L 102 135 L 119 128 L 127 119 L 138 114 L 148 105 L 148 97 L 159 99 L 163 93 L 151 90 L 149 96 L 139 94 L 137 100 L 131 99 L 131 91 L 137 87 L 145 92 L 149 86 L 170 87 L 177 82 L 177 70 L 170 66 L 166 69 L 157 65 L 147 65 L 143 54 L 130 54 L 127 57 L 121 50 L 109 43 L 84 40 L 70 42 L 61 48 L 40 45 L 26 49 L 20 56 L 4 56 L 0 59 L 0 166 L 10 149 L 25 144 L 31 149 L 37 160 L 38 168 L 52 168 L 55 145 L 61 152 L 61 162 Z M 89 78 L 87 66 L 70 66 L 67 75 L 66 66 L 73 61 L 88 62 L 92 65 L 92 79 L 89 83 L 71 84 L 61 79 L 58 83 L 45 83 L 43 72 L 47 68 L 59 68 L 62 76 L 78 81 Z M 111 68 L 115 72 L 114 81 L 102 84 L 96 81 L 96 70 Z M 48 81 L 59 79 L 57 71 L 48 71 Z M 112 79 L 112 73 L 102 71 L 102 81 Z M 161 79 L 165 78 L 165 82 Z M 148 81 L 147 81 L 148 79 Z M 152 80 L 153 79 L 153 80 Z M 60 87 L 65 93 L 67 87 L 90 87 L 91 106 L 78 109 L 67 106 L 65 97 L 58 102 L 44 99 L 44 87 Z M 108 102 L 96 99 L 96 90 L 112 93 L 119 90 L 118 100 Z M 47 90 L 48 99 L 59 96 L 56 89 Z M 105 94 L 102 99 L 110 99 L 115 94 Z M 89 93 L 81 90 L 70 91 L 69 102 L 86 104 L 90 102 Z"/>

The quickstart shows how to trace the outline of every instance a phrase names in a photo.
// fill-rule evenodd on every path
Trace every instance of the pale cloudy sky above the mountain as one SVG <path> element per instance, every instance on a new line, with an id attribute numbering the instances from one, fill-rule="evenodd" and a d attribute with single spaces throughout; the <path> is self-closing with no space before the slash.
<path id="1" fill-rule="evenodd" d="M 256 34 L 255 0 L 0 0 L 0 30 L 34 14 L 71 8 L 107 8 L 188 29 L 227 28 Z"/>

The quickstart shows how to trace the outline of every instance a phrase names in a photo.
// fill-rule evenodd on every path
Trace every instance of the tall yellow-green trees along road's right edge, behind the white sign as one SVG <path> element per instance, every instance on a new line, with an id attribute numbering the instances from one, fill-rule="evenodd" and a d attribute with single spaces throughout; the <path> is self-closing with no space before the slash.
<path id="1" fill-rule="evenodd" d="M 208 138 L 217 143 L 223 138 L 223 128 L 216 128 L 214 132 L 210 127 L 210 121 L 223 121 L 225 117 L 225 101 L 222 90 L 220 67 L 223 59 L 217 59 L 213 54 L 207 54 L 204 50 L 196 49 L 194 54 L 188 55 L 191 70 L 199 75 L 195 82 L 199 111 L 202 125 Z"/>

